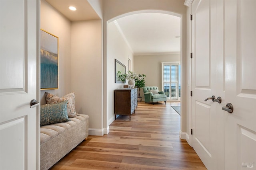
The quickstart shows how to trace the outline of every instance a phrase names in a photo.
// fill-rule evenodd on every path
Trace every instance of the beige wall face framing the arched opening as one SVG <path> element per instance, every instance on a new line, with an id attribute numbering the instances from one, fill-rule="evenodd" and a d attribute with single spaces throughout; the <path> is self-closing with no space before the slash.
<path id="1" fill-rule="evenodd" d="M 187 54 L 186 54 L 186 6 L 184 6 L 184 0 L 104 0 L 103 1 L 103 39 L 104 39 L 104 115 L 108 111 L 108 87 L 107 80 L 112 75 L 107 73 L 108 69 L 108 23 L 116 20 L 122 16 L 129 14 L 138 14 L 142 12 L 159 12 L 173 14 L 181 17 L 181 74 L 183 77 L 181 88 L 181 131 L 186 133 L 186 100 L 187 100 Z M 104 127 L 108 126 L 108 119 L 104 117 Z"/>

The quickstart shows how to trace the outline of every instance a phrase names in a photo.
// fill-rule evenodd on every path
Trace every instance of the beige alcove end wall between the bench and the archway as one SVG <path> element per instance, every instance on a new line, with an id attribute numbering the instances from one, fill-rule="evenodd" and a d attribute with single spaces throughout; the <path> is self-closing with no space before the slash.
<path id="1" fill-rule="evenodd" d="M 101 20 L 72 22 L 71 51 L 69 81 L 76 92 L 76 112 L 89 115 L 90 135 L 103 135 Z"/>

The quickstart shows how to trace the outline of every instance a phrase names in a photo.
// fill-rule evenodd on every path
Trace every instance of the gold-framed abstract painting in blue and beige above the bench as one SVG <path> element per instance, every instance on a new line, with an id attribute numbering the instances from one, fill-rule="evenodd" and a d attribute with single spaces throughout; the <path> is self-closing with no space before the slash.
<path id="1" fill-rule="evenodd" d="M 40 30 L 41 90 L 59 88 L 59 38 Z"/>

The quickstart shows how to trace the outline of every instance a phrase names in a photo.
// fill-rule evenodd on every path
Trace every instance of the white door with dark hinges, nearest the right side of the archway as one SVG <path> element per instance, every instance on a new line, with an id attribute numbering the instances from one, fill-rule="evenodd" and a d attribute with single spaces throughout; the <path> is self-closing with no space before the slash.
<path id="1" fill-rule="evenodd" d="M 223 115 L 216 101 L 224 96 L 223 39 L 218 39 L 223 37 L 223 9 L 216 8 L 219 5 L 216 0 L 194 0 L 191 6 L 192 147 L 208 170 L 224 166 Z"/>

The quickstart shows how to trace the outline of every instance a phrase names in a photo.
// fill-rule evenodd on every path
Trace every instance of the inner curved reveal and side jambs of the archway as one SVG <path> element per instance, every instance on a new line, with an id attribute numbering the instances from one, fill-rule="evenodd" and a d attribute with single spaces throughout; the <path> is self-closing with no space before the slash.
<path id="1" fill-rule="evenodd" d="M 119 18 L 122 18 L 122 17 L 125 17 L 125 16 L 129 16 L 129 15 L 134 15 L 134 14 L 142 14 L 142 13 L 160 13 L 160 14 L 168 14 L 168 15 L 172 15 L 172 16 L 178 16 L 180 17 L 180 20 L 181 20 L 181 50 L 180 50 L 180 63 L 181 63 L 181 68 L 182 68 L 182 84 L 181 84 L 181 88 L 182 88 L 182 93 L 181 93 L 181 96 L 182 96 L 182 99 L 181 99 L 181 104 L 182 104 L 182 108 L 181 108 L 181 112 L 182 112 L 182 115 L 181 115 L 181 131 L 186 131 L 186 114 L 185 113 L 185 110 L 186 110 L 186 45 L 182 44 L 182 39 L 184 38 L 184 31 L 182 31 L 182 25 L 183 27 L 186 25 L 184 25 L 184 22 L 182 21 L 183 18 L 182 18 L 182 15 L 181 14 L 177 14 L 177 13 L 174 13 L 174 12 L 169 12 L 169 11 L 164 11 L 164 10 L 139 10 L 139 11 L 134 11 L 134 12 L 128 12 L 128 13 L 125 13 L 125 14 L 122 14 L 122 15 L 119 15 L 119 16 L 116 16 L 108 21 L 106 21 L 106 35 L 104 36 L 106 38 L 106 40 L 104 41 L 105 42 L 105 45 L 104 45 L 104 72 L 106 72 L 106 74 L 104 74 L 104 76 L 106 76 L 106 81 L 104 81 L 104 88 L 106 87 L 106 90 L 104 92 L 104 94 L 106 94 L 106 100 L 104 102 L 104 109 L 106 109 L 104 113 L 106 113 L 106 115 L 104 114 L 104 127 L 108 127 L 108 125 L 112 122 L 112 120 L 114 120 L 112 117 L 112 113 L 113 112 L 113 107 L 112 106 L 112 101 L 114 101 L 114 99 L 111 99 L 111 98 L 114 98 L 112 94 L 112 88 L 114 86 L 114 88 L 117 88 L 118 86 L 116 84 L 111 81 L 110 78 L 108 78 L 108 76 L 111 76 L 112 74 L 110 73 L 111 72 L 111 69 L 112 69 L 112 63 L 111 61 L 111 57 L 109 55 L 110 53 L 110 49 L 108 49 L 108 41 L 109 41 L 109 36 L 108 36 L 108 31 L 109 31 L 109 24 L 112 23 L 113 21 L 119 19 Z M 186 17 L 185 17 L 185 20 L 186 20 Z M 186 22 L 185 22 L 186 23 Z M 186 36 L 185 36 L 186 38 Z M 128 62 L 128 60 L 127 60 Z M 128 66 L 128 64 L 126 64 Z M 114 74 L 113 74 L 114 75 Z M 184 118 L 182 118 L 184 117 Z M 106 126 L 105 126 L 106 125 Z M 182 127 L 182 125 L 184 127 Z"/>

